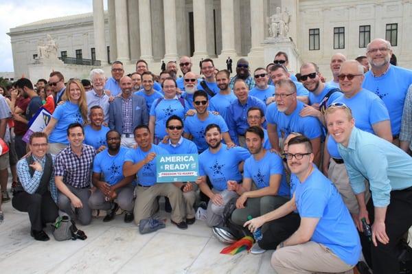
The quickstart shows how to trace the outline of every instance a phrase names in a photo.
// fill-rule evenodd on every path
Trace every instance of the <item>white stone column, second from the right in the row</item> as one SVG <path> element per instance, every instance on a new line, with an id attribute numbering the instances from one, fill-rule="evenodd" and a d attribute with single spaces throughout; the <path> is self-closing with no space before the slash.
<path id="1" fill-rule="evenodd" d="M 238 55 L 235 49 L 235 14 L 233 13 L 235 5 L 233 0 L 220 0 L 220 9 L 222 14 L 222 52 L 220 57 L 232 56 L 233 58 Z"/>

